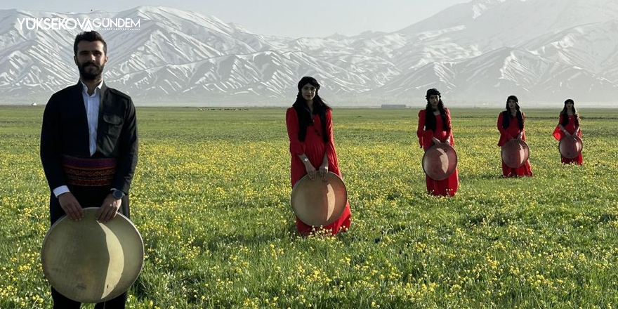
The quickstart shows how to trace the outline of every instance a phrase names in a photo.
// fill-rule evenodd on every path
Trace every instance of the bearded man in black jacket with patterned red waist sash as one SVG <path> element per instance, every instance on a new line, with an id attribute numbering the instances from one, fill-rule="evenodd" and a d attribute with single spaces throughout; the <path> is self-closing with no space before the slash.
<path id="1" fill-rule="evenodd" d="M 136 110 L 129 96 L 105 86 L 107 44 L 98 32 L 82 32 L 73 45 L 79 82 L 49 99 L 41 129 L 41 162 L 51 198 L 53 224 L 65 214 L 84 217 L 85 207 L 99 207 L 106 223 L 118 211 L 129 217 L 129 187 L 138 160 Z M 80 303 L 51 289 L 53 308 Z M 126 293 L 95 308 L 124 308 Z"/>

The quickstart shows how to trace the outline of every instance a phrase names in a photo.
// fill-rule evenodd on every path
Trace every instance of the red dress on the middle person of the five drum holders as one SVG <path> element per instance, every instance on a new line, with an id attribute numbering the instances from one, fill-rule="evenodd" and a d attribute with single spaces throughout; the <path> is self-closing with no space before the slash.
<path id="1" fill-rule="evenodd" d="M 450 136 L 451 141 L 449 145 L 455 146 L 455 140 L 453 138 L 453 130 L 448 132 L 442 131 L 445 126 L 451 127 L 451 112 L 449 109 L 445 109 L 447 112 L 447 124 L 442 124 L 442 117 L 440 115 L 435 117 L 435 131 L 427 130 L 425 128 L 425 113 L 426 110 L 419 112 L 419 127 L 416 129 L 416 136 L 419 137 L 419 144 L 423 147 L 423 150 L 427 151 L 429 147 L 433 145 L 432 138 L 438 138 L 441 143 L 444 143 L 447 137 Z M 425 176 L 425 182 L 427 184 L 427 192 L 432 195 L 453 196 L 459 188 L 459 176 L 457 176 L 457 169 L 444 180 L 433 180 L 429 176 Z"/>

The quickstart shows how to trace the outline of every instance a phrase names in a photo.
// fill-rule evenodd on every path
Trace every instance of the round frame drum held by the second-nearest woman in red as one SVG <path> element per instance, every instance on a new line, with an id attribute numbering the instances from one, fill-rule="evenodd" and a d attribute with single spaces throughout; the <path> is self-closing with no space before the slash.
<path id="1" fill-rule="evenodd" d="M 429 147 L 421 161 L 425 175 L 433 180 L 445 180 L 457 168 L 457 152 L 448 144 Z"/>

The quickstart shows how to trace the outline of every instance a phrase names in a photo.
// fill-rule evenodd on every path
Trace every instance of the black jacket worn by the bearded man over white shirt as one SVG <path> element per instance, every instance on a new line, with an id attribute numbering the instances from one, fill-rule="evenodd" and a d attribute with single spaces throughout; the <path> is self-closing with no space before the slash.
<path id="1" fill-rule="evenodd" d="M 49 99 L 41 129 L 41 162 L 51 190 L 67 185 L 61 155 L 91 157 L 88 117 L 82 84 L 64 88 Z M 136 110 L 131 97 L 103 83 L 99 104 L 96 152 L 92 157 L 116 158 L 112 188 L 129 194 L 138 162 Z"/>

